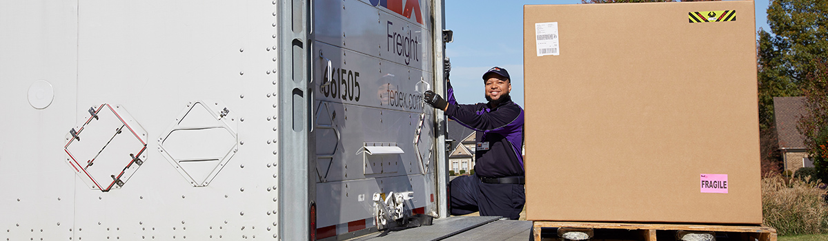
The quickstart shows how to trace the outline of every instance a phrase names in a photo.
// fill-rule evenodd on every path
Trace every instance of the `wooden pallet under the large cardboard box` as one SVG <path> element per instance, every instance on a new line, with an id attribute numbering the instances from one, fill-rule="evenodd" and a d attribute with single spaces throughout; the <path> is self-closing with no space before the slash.
<path id="1" fill-rule="evenodd" d="M 562 240 L 557 235 L 543 237 L 542 229 L 590 229 L 595 236 L 590 240 L 643 240 L 660 241 L 675 240 L 676 232 L 692 231 L 700 233 L 728 234 L 730 240 L 739 241 L 777 241 L 776 229 L 765 226 L 735 226 L 735 225 L 707 225 L 707 224 L 638 224 L 638 223 L 593 223 L 593 222 L 553 222 L 534 221 L 532 233 L 535 241 Z M 601 231 L 629 230 L 637 234 L 634 239 L 619 239 L 610 235 L 599 237 Z M 658 233 L 658 235 L 657 235 Z M 672 236 L 670 236 L 672 234 Z M 657 238 L 658 236 L 658 238 Z"/>

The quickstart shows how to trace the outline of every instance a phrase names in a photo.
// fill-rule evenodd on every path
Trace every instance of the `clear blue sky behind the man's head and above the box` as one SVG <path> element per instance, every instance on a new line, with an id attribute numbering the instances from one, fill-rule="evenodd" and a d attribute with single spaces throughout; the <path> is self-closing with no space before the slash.
<path id="1" fill-rule="evenodd" d="M 451 85 L 460 103 L 485 102 L 481 76 L 493 66 L 512 77 L 513 101 L 523 106 L 523 5 L 580 4 L 580 0 L 445 0 L 445 28 L 455 32 L 445 46 Z M 756 29 L 769 31 L 768 0 L 756 0 Z"/>

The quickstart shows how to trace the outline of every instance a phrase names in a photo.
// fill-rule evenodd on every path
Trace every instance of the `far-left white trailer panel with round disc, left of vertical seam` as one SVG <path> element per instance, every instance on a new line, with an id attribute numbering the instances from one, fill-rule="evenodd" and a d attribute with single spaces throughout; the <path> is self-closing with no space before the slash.
<path id="1" fill-rule="evenodd" d="M 65 164 L 63 146 L 76 124 L 75 3 L 0 1 L 0 100 L 7 114 L 0 125 L 2 240 L 72 237 L 75 173 Z M 54 91 L 44 108 L 27 97 L 39 80 Z"/>

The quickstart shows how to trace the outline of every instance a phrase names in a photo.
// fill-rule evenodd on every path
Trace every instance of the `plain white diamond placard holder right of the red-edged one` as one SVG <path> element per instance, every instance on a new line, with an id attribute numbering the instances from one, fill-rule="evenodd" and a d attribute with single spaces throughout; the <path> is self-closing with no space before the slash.
<path id="1" fill-rule="evenodd" d="M 222 102 L 188 103 L 158 151 L 193 187 L 206 187 L 238 151 L 233 113 Z"/>

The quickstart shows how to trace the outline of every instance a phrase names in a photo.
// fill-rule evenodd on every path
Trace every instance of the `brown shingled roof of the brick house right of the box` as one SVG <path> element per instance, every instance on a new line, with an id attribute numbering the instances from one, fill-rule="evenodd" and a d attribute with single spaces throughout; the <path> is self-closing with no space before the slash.
<path id="1" fill-rule="evenodd" d="M 805 137 L 797 130 L 797 122 L 805 114 L 805 97 L 773 97 L 773 112 L 779 148 L 805 149 Z"/>

